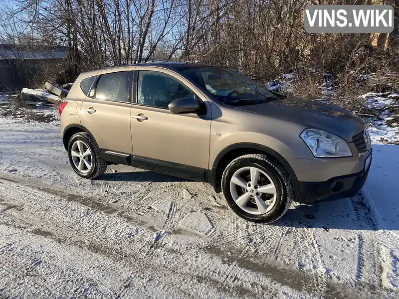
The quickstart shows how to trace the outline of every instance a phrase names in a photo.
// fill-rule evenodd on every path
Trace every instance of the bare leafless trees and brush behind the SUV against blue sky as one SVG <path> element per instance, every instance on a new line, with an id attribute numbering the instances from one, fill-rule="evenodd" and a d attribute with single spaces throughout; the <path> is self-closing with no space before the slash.
<path id="1" fill-rule="evenodd" d="M 0 20 L 0 38 L 11 44 L 66 45 L 71 76 L 163 59 L 226 65 L 266 80 L 293 69 L 343 69 L 353 52 L 372 38 L 307 33 L 304 8 L 364 2 L 14 0 L 13 6 L 0 4 L 6 16 Z"/>

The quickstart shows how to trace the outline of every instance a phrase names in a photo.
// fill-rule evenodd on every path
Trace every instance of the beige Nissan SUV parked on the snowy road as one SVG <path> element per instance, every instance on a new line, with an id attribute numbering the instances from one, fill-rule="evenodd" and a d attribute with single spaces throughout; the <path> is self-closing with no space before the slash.
<path id="1" fill-rule="evenodd" d="M 81 177 L 116 163 L 209 182 L 250 221 L 275 221 L 293 200 L 354 196 L 370 169 L 360 118 L 221 67 L 147 63 L 82 73 L 59 110 Z"/>

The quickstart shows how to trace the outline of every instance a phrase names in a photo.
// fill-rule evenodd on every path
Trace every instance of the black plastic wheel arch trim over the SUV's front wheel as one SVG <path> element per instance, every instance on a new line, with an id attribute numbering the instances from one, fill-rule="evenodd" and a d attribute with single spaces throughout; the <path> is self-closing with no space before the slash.
<path id="1" fill-rule="evenodd" d="M 277 151 L 255 143 L 233 144 L 222 149 L 219 152 L 219 154 L 216 156 L 215 160 L 213 161 L 212 169 L 210 170 L 210 174 L 208 175 L 209 178 L 208 182 L 213 186 L 216 192 L 221 191 L 220 188 L 221 176 L 228 163 L 230 163 L 233 159 L 241 155 L 250 154 L 250 153 L 265 154 L 269 158 L 273 159 L 274 161 L 282 165 L 285 168 L 285 170 L 287 170 L 291 178 L 291 181 L 294 186 L 295 196 L 299 198 L 300 196 L 299 183 L 291 165 Z"/>

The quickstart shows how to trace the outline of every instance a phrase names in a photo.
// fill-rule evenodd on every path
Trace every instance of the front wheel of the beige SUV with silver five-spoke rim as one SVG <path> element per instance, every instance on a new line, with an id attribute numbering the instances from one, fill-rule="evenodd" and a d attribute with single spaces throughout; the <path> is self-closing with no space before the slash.
<path id="1" fill-rule="evenodd" d="M 276 221 L 287 212 L 295 196 L 285 168 L 263 154 L 246 154 L 231 161 L 223 172 L 221 188 L 230 208 L 252 222 Z"/>

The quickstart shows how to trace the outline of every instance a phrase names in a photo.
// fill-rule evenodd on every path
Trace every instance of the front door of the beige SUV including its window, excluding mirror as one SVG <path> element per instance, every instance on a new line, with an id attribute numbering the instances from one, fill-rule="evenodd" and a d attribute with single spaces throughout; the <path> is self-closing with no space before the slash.
<path id="1" fill-rule="evenodd" d="M 209 162 L 210 109 L 204 116 L 173 114 L 168 104 L 196 97 L 178 79 L 140 70 L 131 110 L 134 165 L 193 180 L 205 180 Z"/>

